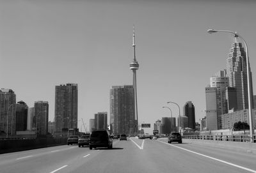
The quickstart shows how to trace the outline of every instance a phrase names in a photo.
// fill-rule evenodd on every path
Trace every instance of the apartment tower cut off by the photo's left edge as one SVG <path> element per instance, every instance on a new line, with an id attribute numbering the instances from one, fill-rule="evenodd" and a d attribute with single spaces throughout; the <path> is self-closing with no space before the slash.
<path id="1" fill-rule="evenodd" d="M 0 131 L 15 135 L 16 94 L 12 89 L 0 89 Z M 8 128 L 8 130 L 7 130 Z"/>

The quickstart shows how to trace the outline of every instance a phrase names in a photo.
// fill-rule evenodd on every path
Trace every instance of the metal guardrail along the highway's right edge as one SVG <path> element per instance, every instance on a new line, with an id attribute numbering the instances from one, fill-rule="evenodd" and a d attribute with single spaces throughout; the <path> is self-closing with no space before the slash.
<path id="1" fill-rule="evenodd" d="M 183 139 L 222 140 L 232 142 L 250 142 L 249 135 L 184 135 Z M 256 143 L 256 135 L 253 135 L 253 143 Z"/>

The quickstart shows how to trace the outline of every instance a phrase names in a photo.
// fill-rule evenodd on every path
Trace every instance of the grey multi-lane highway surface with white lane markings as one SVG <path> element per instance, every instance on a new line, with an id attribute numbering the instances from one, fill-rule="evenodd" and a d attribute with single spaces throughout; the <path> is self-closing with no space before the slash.
<path id="1" fill-rule="evenodd" d="M 166 138 L 128 138 L 113 140 L 113 149 L 74 145 L 0 154 L 0 172 L 256 173 L 256 154 L 207 144 L 168 144 Z"/>

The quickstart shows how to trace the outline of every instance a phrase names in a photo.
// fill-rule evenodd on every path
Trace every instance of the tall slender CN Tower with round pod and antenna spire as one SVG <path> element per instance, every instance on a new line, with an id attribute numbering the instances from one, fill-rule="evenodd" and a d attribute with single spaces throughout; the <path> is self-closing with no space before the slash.
<path id="1" fill-rule="evenodd" d="M 134 120 L 138 121 L 138 104 L 137 104 L 137 87 L 136 87 L 136 70 L 139 69 L 139 64 L 136 61 L 136 56 L 135 56 L 135 33 L 134 33 L 134 26 L 133 26 L 133 41 L 132 41 L 132 47 L 133 47 L 133 61 L 130 64 L 130 70 L 132 70 L 133 73 L 133 81 L 132 81 L 132 86 L 133 86 L 133 96 L 134 96 Z"/>

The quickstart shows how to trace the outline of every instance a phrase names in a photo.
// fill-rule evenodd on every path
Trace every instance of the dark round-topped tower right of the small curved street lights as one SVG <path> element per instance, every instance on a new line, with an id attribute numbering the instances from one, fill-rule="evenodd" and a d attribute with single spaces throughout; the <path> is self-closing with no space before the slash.
<path id="1" fill-rule="evenodd" d="M 183 107 L 183 114 L 184 116 L 188 117 L 188 127 L 195 130 L 196 126 L 196 119 L 195 119 L 195 106 L 191 101 L 186 102 Z"/>

